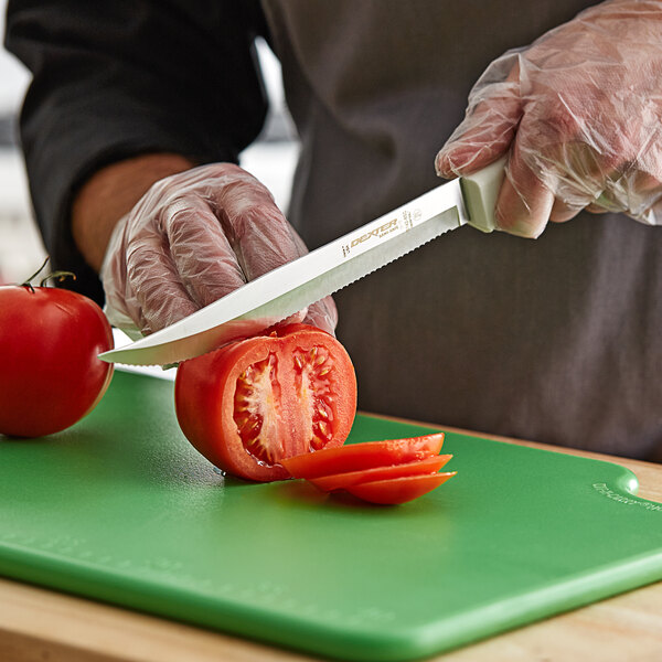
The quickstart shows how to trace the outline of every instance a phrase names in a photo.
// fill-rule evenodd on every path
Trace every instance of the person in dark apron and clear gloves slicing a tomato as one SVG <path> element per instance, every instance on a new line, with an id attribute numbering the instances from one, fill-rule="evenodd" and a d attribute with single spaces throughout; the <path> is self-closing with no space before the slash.
<path id="1" fill-rule="evenodd" d="M 256 35 L 301 141 L 289 222 L 236 166 L 265 117 Z M 662 460 L 661 35 L 653 0 L 10 0 L 6 44 L 34 75 L 45 245 L 118 323 L 160 329 L 297 233 L 319 246 L 505 153 L 504 232 L 335 295 L 360 407 Z M 333 305 L 307 319 L 332 329 Z"/>

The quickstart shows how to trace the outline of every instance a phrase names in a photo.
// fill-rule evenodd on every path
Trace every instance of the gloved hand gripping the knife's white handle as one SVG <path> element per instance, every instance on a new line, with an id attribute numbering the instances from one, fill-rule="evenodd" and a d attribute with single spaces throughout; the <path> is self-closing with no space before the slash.
<path id="1" fill-rule="evenodd" d="M 437 172 L 509 150 L 501 229 L 536 237 L 583 209 L 662 224 L 662 2 L 602 2 L 494 61 Z"/>

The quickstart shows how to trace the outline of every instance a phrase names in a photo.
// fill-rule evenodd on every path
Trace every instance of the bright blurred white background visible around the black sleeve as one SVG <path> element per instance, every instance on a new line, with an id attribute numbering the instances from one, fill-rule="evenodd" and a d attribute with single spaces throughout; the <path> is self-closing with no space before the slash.
<path id="1" fill-rule="evenodd" d="M 4 35 L 7 0 L 0 0 Z M 241 164 L 257 177 L 287 211 L 298 143 L 285 105 L 280 65 L 264 41 L 256 43 L 269 94 L 269 114 L 257 141 L 241 154 Z M 34 224 L 23 159 L 18 145 L 18 116 L 30 74 L 0 49 L 0 284 L 22 281 L 36 271 L 45 250 Z"/>

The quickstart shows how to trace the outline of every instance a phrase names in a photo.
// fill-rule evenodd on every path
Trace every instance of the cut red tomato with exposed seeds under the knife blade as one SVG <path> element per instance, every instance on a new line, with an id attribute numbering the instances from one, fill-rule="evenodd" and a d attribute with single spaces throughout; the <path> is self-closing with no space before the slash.
<path id="1" fill-rule="evenodd" d="M 344 444 L 356 377 L 338 340 L 290 324 L 184 361 L 174 398 L 182 431 L 216 467 L 279 480 L 286 458 Z"/>

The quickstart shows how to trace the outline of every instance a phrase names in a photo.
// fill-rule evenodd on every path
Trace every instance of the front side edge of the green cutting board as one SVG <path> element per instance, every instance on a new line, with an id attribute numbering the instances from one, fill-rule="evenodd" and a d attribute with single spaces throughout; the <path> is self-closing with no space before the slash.
<path id="1" fill-rule="evenodd" d="M 6 552 L 7 548 L 6 546 Z M 215 610 L 210 609 L 211 601 L 216 600 L 216 597 L 203 596 L 201 599 L 200 596 L 193 596 L 192 599 L 185 588 L 178 591 L 188 604 L 189 613 L 182 616 L 181 610 L 178 612 L 168 607 L 170 602 L 167 598 L 171 597 L 172 587 L 164 591 L 152 581 L 137 581 L 135 577 L 127 577 L 126 583 L 121 581 L 121 578 L 117 581 L 117 575 L 113 573 L 107 574 L 116 579 L 115 583 L 98 583 L 97 567 L 89 567 L 89 577 L 86 577 L 87 573 L 81 573 L 79 564 L 71 564 L 43 553 L 25 555 L 22 551 L 21 554 L 22 556 L 17 556 L 13 563 L 11 555 L 0 556 L 0 575 L 211 631 L 247 637 L 308 654 L 322 654 L 334 660 L 353 662 L 408 662 L 447 653 L 494 634 L 662 580 L 661 547 L 655 556 L 641 555 L 624 565 L 609 564 L 589 575 L 581 574 L 562 584 L 542 587 L 528 594 L 528 599 L 524 602 L 521 596 L 512 596 L 505 602 L 498 601 L 480 609 L 467 610 L 442 623 L 413 626 L 402 630 L 392 628 L 388 637 L 384 637 L 383 631 L 371 634 L 365 629 L 362 632 L 351 632 L 341 627 L 320 628 L 319 621 L 307 623 L 268 610 L 256 615 L 254 606 L 247 606 L 245 609 L 239 606 L 237 609 L 236 602 L 220 612 L 217 601 L 214 605 Z M 31 557 L 36 562 L 35 565 L 25 563 Z M 54 565 L 57 567 L 54 568 Z M 66 570 L 67 566 L 71 566 L 72 573 L 62 572 Z M 60 572 L 53 573 L 53 569 Z M 92 583 L 86 587 L 88 578 Z M 127 590 L 137 600 L 131 599 L 130 604 L 127 602 Z M 288 628 L 295 620 L 296 627 Z M 477 622 L 480 624 L 477 626 Z M 256 629 L 259 633 L 256 633 Z M 313 644 L 301 643 L 302 630 L 308 630 L 308 637 L 314 641 Z M 292 632 L 296 632 L 296 636 Z M 350 654 L 348 648 L 352 649 Z"/>

